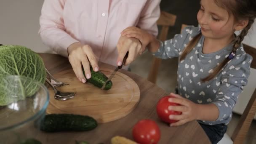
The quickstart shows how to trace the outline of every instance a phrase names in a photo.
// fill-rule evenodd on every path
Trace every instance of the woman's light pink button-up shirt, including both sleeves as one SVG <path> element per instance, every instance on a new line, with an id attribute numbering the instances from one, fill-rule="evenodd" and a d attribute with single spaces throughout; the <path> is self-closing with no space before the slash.
<path id="1" fill-rule="evenodd" d="M 75 42 L 90 45 L 99 61 L 116 65 L 117 42 L 126 27 L 157 35 L 160 0 L 45 0 L 40 36 L 45 45 L 67 57 Z"/>

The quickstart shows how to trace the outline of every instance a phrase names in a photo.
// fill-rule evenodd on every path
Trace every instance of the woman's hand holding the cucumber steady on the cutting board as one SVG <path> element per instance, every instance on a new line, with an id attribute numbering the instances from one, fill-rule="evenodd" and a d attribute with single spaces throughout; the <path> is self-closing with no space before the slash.
<path id="1" fill-rule="evenodd" d="M 99 71 L 98 61 L 91 49 L 91 46 L 82 45 L 81 43 L 73 43 L 67 48 L 67 53 L 75 75 L 82 83 L 86 82 L 82 66 L 87 79 L 91 78 L 90 63 L 94 72 Z"/>

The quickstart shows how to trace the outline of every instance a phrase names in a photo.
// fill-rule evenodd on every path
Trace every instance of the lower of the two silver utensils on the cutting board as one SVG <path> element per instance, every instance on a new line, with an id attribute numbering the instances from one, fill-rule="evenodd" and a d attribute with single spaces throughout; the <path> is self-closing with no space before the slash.
<path id="1" fill-rule="evenodd" d="M 53 91 L 54 91 L 54 98 L 57 99 L 57 100 L 62 100 L 62 101 L 65 101 L 67 99 L 71 99 L 75 96 L 76 93 L 73 93 L 73 92 L 61 92 L 61 91 L 58 91 L 52 84 L 51 82 L 46 78 L 46 82 L 51 85 L 51 87 L 53 88 Z"/>

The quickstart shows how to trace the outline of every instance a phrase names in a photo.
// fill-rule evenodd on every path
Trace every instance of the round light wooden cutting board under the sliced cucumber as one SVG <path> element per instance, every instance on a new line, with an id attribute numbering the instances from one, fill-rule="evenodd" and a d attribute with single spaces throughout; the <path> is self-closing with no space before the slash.
<path id="1" fill-rule="evenodd" d="M 107 77 L 112 69 L 101 69 Z M 112 88 L 108 91 L 92 85 L 81 83 L 77 80 L 73 69 L 64 70 L 53 75 L 61 82 L 68 83 L 58 87 L 62 92 L 76 92 L 73 99 L 58 101 L 54 99 L 54 91 L 48 87 L 50 102 L 47 108 L 48 114 L 69 113 L 77 115 L 89 115 L 98 123 L 107 123 L 128 115 L 138 104 L 140 91 L 138 85 L 127 75 L 117 72 L 112 78 Z"/>

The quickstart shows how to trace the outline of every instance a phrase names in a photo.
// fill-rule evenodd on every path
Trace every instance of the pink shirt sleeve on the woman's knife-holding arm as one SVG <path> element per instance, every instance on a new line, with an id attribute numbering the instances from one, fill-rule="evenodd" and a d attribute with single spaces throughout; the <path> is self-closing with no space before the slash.
<path id="1" fill-rule="evenodd" d="M 155 37 L 158 34 L 157 20 L 160 17 L 160 0 L 148 0 L 145 4 L 137 27 L 146 30 Z"/>

